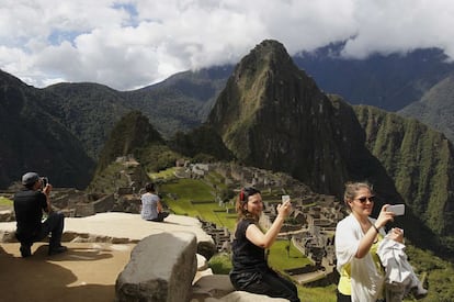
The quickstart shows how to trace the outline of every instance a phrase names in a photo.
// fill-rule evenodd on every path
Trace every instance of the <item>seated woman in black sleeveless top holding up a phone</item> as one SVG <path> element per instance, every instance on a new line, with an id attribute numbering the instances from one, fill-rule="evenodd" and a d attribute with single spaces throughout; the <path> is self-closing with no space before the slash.
<path id="1" fill-rule="evenodd" d="M 263 212 L 260 191 L 254 188 L 241 190 L 236 210 L 238 223 L 232 242 L 232 265 L 230 280 L 236 290 L 265 294 L 273 298 L 285 298 L 297 302 L 296 286 L 272 270 L 266 262 L 265 248 L 270 248 L 292 211 L 290 200 L 277 204 L 277 216 L 271 227 L 263 233 L 259 219 Z"/>

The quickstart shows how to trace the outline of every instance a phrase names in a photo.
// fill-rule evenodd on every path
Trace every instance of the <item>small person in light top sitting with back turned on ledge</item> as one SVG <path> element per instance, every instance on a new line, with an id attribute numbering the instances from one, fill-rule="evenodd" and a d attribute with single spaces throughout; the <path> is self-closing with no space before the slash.
<path id="1" fill-rule="evenodd" d="M 169 216 L 169 213 L 162 211 L 162 203 L 158 194 L 156 194 L 155 183 L 147 183 L 145 190 L 147 192 L 140 197 L 141 217 L 146 221 L 163 222 Z"/>

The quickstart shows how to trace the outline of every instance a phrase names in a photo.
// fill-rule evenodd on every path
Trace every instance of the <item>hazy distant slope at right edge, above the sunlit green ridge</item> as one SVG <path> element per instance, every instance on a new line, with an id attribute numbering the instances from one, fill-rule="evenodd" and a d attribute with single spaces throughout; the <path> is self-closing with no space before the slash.
<path id="1" fill-rule="evenodd" d="M 454 142 L 454 75 L 434 85 L 418 102 L 398 113 L 434 127 Z"/>

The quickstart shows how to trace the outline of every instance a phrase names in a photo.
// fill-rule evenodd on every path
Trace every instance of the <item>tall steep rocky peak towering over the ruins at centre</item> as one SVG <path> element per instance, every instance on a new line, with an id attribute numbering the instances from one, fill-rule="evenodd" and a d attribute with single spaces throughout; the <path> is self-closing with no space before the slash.
<path id="1" fill-rule="evenodd" d="M 332 192 L 345 177 L 342 169 L 330 179 L 328 170 L 324 172 L 328 161 L 342 161 L 330 122 L 333 111 L 330 100 L 293 64 L 284 46 L 268 40 L 237 65 L 207 124 L 241 163 L 288 172 L 313 188 Z"/>

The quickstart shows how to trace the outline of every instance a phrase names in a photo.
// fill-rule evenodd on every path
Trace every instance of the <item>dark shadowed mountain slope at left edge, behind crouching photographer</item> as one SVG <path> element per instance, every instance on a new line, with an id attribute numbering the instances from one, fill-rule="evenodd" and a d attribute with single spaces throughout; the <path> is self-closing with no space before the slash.
<path id="1" fill-rule="evenodd" d="M 0 188 L 26 171 L 47 176 L 57 187 L 84 188 L 94 161 L 58 119 L 57 97 L 0 70 Z"/>

